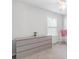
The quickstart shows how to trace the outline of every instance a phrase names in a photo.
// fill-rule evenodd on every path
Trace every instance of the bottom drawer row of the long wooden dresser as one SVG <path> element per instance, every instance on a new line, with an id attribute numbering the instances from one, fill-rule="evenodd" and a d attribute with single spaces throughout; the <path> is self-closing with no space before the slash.
<path id="1" fill-rule="evenodd" d="M 17 59 L 23 59 L 24 57 L 26 58 L 29 55 L 32 55 L 32 54 L 35 54 L 35 53 L 39 53 L 39 52 L 41 52 L 43 50 L 46 50 L 46 49 L 49 49 L 51 47 L 52 47 L 51 44 L 47 44 L 47 45 L 44 45 L 44 46 L 37 47 L 35 49 L 31 49 L 31 50 L 28 50 L 28 51 L 23 51 L 21 53 L 17 52 L 16 58 Z"/>

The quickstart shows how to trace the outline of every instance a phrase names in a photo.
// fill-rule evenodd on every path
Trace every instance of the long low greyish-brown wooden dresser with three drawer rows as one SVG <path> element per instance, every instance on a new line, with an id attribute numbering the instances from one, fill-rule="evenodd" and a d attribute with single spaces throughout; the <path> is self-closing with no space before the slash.
<path id="1" fill-rule="evenodd" d="M 16 59 L 24 57 L 52 47 L 52 36 L 23 37 L 16 39 Z"/>

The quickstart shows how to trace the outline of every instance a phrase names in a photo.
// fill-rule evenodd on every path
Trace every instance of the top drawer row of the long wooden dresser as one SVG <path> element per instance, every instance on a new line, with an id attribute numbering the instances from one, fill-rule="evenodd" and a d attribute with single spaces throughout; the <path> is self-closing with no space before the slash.
<path id="1" fill-rule="evenodd" d="M 39 37 L 39 38 L 31 38 L 31 39 L 25 39 L 22 41 L 17 41 L 16 46 L 23 46 L 31 43 L 41 42 L 44 40 L 51 40 L 51 37 Z"/>

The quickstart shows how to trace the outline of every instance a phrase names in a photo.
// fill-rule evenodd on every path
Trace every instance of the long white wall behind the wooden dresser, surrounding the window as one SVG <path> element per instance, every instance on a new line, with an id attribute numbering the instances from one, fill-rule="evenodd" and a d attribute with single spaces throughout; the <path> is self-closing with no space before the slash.
<path id="1" fill-rule="evenodd" d="M 13 2 L 13 54 L 16 52 L 15 38 L 32 36 L 33 32 L 38 32 L 39 36 L 47 35 L 47 16 L 57 17 L 58 26 L 61 28 L 61 15 L 28 4 Z"/>

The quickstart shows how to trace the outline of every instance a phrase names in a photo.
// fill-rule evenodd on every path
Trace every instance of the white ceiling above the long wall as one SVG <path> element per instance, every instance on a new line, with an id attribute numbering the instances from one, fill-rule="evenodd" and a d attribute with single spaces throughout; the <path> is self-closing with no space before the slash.
<path id="1" fill-rule="evenodd" d="M 25 3 L 29 3 L 36 7 L 46 9 L 51 12 L 66 15 L 66 9 L 64 11 L 59 9 L 58 0 L 18 0 Z"/>

